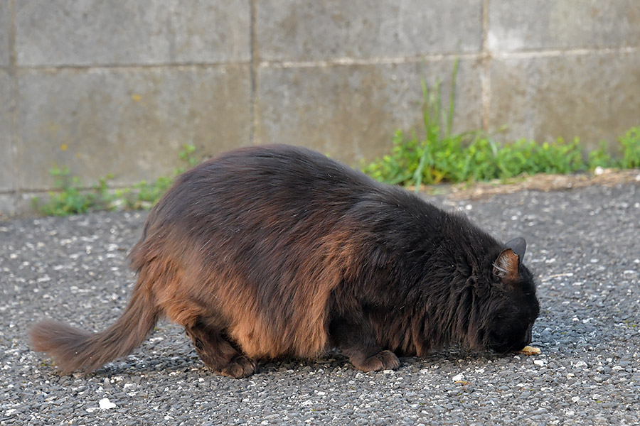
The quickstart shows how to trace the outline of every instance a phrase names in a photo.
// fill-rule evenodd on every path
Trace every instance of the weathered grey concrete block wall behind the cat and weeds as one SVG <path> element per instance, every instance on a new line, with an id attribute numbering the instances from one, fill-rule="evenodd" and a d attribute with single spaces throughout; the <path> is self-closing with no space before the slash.
<path id="1" fill-rule="evenodd" d="M 0 212 L 67 165 L 87 185 L 283 142 L 352 165 L 420 129 L 420 80 L 455 127 L 504 140 L 640 124 L 636 0 L 0 0 Z"/>

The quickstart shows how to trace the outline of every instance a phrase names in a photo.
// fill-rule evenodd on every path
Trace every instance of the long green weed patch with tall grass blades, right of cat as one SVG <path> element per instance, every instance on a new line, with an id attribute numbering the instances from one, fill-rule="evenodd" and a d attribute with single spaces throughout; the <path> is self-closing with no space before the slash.
<path id="1" fill-rule="evenodd" d="M 640 126 L 619 139 L 622 159 L 614 160 L 601 143 L 589 153 L 585 162 L 580 140 L 535 143 L 521 139 L 499 145 L 484 131 L 454 133 L 454 89 L 458 63 L 454 62 L 451 96 L 446 111 L 441 102 L 440 83 L 429 89 L 422 82 L 424 106 L 422 121 L 425 135 L 410 137 L 396 131 L 391 153 L 364 165 L 363 171 L 381 182 L 392 185 L 437 184 L 439 182 L 472 182 L 507 179 L 535 173 L 575 173 L 602 168 L 640 167 Z"/>

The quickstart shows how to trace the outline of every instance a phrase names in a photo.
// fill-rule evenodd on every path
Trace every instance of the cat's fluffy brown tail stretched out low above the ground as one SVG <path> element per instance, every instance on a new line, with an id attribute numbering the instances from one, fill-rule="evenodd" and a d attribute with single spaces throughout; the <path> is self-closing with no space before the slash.
<path id="1" fill-rule="evenodd" d="M 148 295 L 134 292 L 132 300 L 111 327 L 90 333 L 62 322 L 38 322 L 30 331 L 34 350 L 53 357 L 60 373 L 85 373 L 125 356 L 140 346 L 154 329 L 158 312 Z"/>

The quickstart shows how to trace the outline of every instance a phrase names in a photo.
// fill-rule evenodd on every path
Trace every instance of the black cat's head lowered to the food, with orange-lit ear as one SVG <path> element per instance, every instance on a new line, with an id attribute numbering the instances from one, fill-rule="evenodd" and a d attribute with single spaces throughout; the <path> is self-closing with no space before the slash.
<path id="1" fill-rule="evenodd" d="M 531 342 L 540 305 L 533 275 L 522 264 L 526 241 L 505 244 L 491 268 L 491 290 L 484 310 L 484 346 L 496 352 L 517 351 Z"/>

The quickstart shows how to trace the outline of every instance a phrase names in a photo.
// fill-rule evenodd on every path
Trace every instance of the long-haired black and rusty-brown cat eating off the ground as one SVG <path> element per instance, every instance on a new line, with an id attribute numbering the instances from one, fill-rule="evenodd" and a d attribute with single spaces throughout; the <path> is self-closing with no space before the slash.
<path id="1" fill-rule="evenodd" d="M 61 373 L 88 373 L 168 317 L 235 378 L 332 348 L 362 371 L 452 345 L 506 353 L 531 342 L 539 312 L 525 251 L 321 153 L 239 148 L 178 176 L 151 209 L 112 326 L 43 321 L 31 342 Z"/>

